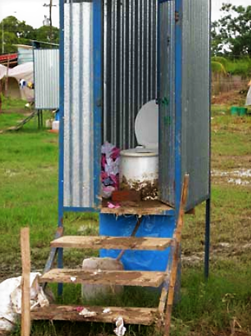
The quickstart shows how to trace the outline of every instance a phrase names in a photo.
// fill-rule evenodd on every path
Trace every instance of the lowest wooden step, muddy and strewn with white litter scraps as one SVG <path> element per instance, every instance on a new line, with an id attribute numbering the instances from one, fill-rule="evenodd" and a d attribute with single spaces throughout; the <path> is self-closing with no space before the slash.
<path id="1" fill-rule="evenodd" d="M 43 308 L 35 308 L 31 312 L 32 320 L 59 320 L 78 322 L 103 322 L 114 323 L 119 316 L 123 317 L 125 324 L 149 326 L 159 319 L 157 308 L 129 308 L 129 307 L 109 307 L 109 313 L 103 313 L 108 307 L 89 307 L 90 312 L 96 312 L 93 317 L 84 317 L 79 314 L 77 306 L 50 305 Z"/>

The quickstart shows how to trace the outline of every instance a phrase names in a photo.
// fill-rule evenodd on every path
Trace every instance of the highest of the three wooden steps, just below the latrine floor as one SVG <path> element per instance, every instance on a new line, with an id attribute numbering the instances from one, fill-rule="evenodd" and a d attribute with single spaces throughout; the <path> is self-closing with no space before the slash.
<path id="1" fill-rule="evenodd" d="M 163 251 L 172 241 L 170 238 L 154 237 L 62 236 L 53 240 L 51 247 Z"/>

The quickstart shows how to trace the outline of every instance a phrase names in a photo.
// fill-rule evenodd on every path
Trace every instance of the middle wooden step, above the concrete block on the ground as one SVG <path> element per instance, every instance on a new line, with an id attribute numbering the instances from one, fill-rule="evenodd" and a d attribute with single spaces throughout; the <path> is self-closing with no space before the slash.
<path id="1" fill-rule="evenodd" d="M 44 273 L 40 277 L 40 282 L 159 287 L 165 277 L 166 273 L 164 272 L 86 271 L 57 268 Z"/>

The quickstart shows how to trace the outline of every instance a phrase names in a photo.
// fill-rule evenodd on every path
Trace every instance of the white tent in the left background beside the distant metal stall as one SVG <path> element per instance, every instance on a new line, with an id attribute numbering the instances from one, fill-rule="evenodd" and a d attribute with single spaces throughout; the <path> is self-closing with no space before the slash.
<path id="1" fill-rule="evenodd" d="M 27 87 L 20 88 L 19 86 L 19 81 L 21 79 L 25 82 L 33 83 L 33 62 L 23 63 L 8 70 L 6 67 L 1 66 L 0 79 L 4 76 L 8 78 L 7 94 L 10 98 L 22 98 L 28 102 L 32 102 L 34 100 L 34 90 L 30 90 Z"/>

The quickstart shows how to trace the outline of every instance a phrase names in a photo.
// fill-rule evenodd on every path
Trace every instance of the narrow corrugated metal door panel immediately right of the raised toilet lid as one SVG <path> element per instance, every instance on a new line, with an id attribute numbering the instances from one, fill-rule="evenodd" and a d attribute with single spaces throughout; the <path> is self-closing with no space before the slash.
<path id="1" fill-rule="evenodd" d="M 174 205 L 175 196 L 175 1 L 159 7 L 159 191 Z"/>

